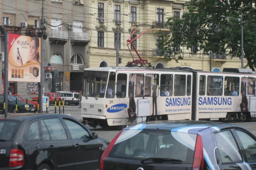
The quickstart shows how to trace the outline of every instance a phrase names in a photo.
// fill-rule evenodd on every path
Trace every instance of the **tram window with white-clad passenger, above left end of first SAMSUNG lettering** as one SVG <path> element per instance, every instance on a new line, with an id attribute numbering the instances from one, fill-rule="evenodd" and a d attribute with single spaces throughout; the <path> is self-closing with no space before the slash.
<path id="1" fill-rule="evenodd" d="M 160 96 L 172 96 L 173 75 L 161 74 L 160 77 Z"/>

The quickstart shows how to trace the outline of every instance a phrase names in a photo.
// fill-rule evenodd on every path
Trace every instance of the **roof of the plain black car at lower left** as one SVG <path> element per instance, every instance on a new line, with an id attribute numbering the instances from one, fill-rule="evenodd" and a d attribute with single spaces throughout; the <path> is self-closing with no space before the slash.
<path id="1" fill-rule="evenodd" d="M 51 116 L 62 116 L 69 117 L 65 114 L 49 114 L 49 113 L 17 113 L 17 114 L 8 114 L 6 120 L 25 120 L 25 119 L 37 119 L 37 118 L 45 118 Z M 0 115 L 0 120 L 4 119 L 4 115 Z"/>

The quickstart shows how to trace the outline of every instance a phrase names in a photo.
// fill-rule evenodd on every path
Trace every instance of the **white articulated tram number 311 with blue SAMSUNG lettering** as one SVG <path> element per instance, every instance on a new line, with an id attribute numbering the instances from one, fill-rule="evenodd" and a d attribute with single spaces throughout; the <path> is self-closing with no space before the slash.
<path id="1" fill-rule="evenodd" d="M 151 120 L 254 119 L 256 74 L 250 69 L 223 71 L 84 69 L 81 117 L 103 128 Z"/>

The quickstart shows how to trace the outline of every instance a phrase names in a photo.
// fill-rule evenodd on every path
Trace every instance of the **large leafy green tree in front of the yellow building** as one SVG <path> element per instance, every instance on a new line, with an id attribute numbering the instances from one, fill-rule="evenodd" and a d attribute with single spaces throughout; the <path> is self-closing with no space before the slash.
<path id="1" fill-rule="evenodd" d="M 199 50 L 209 54 L 229 51 L 232 57 L 241 56 L 241 19 L 243 17 L 244 58 L 249 68 L 256 66 L 256 0 L 190 0 L 184 4 L 187 9 L 180 19 L 169 17 L 166 24 L 171 33 L 163 35 L 164 40 L 157 44 L 160 56 L 176 62 L 183 59 L 182 50 L 175 45 Z M 172 54 L 172 55 L 170 55 Z M 246 61 L 246 60 L 245 60 Z"/>

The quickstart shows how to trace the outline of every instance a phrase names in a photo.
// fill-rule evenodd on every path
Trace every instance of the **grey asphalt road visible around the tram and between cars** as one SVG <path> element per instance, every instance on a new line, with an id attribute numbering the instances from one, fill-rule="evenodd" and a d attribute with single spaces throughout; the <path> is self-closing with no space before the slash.
<path id="1" fill-rule="evenodd" d="M 81 109 L 78 108 L 79 106 L 64 106 L 64 113 L 69 113 L 71 114 L 72 117 L 81 120 Z M 52 109 L 53 108 L 53 109 Z M 62 106 L 61 106 L 61 110 L 62 110 Z M 59 113 L 59 108 L 57 107 L 57 113 Z M 54 106 L 50 107 L 49 113 L 54 113 L 55 109 Z M 248 129 L 252 134 L 254 134 L 256 136 L 256 121 L 255 122 L 243 122 L 243 123 L 233 123 L 232 124 L 237 124 L 239 126 L 242 126 L 246 129 Z M 120 131 L 120 129 L 117 130 L 109 130 L 109 129 L 102 129 L 100 127 L 97 127 L 96 129 L 91 128 L 90 126 L 87 125 L 87 127 L 89 129 L 91 129 L 93 132 L 96 132 L 100 138 L 103 138 L 105 140 L 111 141 L 115 135 L 118 134 L 118 132 Z"/>

